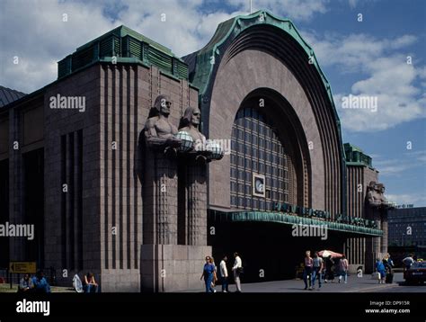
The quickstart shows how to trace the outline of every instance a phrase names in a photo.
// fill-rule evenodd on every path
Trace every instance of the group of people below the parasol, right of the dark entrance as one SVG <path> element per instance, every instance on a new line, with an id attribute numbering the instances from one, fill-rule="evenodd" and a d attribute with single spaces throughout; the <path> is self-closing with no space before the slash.
<path id="1" fill-rule="evenodd" d="M 333 259 L 332 255 L 329 255 L 323 259 L 318 252 L 314 253 L 311 257 L 311 252 L 306 251 L 305 263 L 303 270 L 303 282 L 305 282 L 305 290 L 315 290 L 315 282 L 318 281 L 318 289 L 321 290 L 322 286 L 322 275 L 324 273 L 324 282 L 334 282 L 334 276 L 339 276 L 339 282 L 346 284 L 348 282 L 348 269 L 349 263 L 345 255 L 342 258 Z"/>

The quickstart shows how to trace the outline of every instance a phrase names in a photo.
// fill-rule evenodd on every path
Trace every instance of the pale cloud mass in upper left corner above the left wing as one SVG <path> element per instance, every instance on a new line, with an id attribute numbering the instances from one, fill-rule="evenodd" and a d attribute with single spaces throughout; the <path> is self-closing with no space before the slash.
<path id="1" fill-rule="evenodd" d="M 115 26 L 93 4 L 17 0 L 0 8 L 0 39 L 7 44 L 0 50 L 0 84 L 25 93 L 54 81 L 58 60 Z"/>

